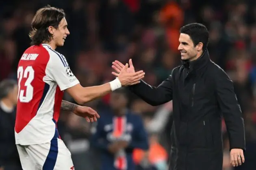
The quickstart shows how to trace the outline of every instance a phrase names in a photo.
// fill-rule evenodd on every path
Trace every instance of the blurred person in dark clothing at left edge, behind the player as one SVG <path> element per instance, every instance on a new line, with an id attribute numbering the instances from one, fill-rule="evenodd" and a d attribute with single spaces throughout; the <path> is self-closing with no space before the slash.
<path id="1" fill-rule="evenodd" d="M 0 82 L 0 170 L 22 170 L 14 136 L 17 95 L 16 81 Z"/>

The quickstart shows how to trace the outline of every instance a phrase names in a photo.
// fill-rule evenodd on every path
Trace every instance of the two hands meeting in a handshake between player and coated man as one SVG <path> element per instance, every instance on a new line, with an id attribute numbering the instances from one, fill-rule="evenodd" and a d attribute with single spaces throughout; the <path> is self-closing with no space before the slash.
<path id="1" fill-rule="evenodd" d="M 145 75 L 145 72 L 143 72 L 143 70 L 135 72 L 134 66 L 132 64 L 132 59 L 130 59 L 129 64 L 126 63 L 126 65 L 122 64 L 117 60 L 115 60 L 115 62 L 112 62 L 112 64 L 112 68 L 116 71 L 112 72 L 112 74 L 119 79 L 121 86 L 135 85 L 137 83 L 140 83 L 140 80 L 143 79 Z"/>

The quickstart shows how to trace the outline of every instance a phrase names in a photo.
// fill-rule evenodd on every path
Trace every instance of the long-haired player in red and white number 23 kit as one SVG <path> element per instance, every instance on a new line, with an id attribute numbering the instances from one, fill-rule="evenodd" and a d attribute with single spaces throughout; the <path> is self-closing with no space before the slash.
<path id="1" fill-rule="evenodd" d="M 63 101 L 67 91 L 78 104 L 104 96 L 121 86 L 139 83 L 144 72 L 126 73 L 99 86 L 82 87 L 65 57 L 55 51 L 69 35 L 62 9 L 40 8 L 31 23 L 31 47 L 17 68 L 18 101 L 15 140 L 24 170 L 74 169 L 71 154 L 59 137 L 56 122 L 60 110 L 69 110 L 87 121 L 97 121 L 95 110 Z"/>

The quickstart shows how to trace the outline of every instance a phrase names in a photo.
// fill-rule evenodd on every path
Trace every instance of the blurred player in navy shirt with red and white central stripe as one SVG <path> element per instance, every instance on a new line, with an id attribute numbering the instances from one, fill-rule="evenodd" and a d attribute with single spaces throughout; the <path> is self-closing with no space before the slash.
<path id="1" fill-rule="evenodd" d="M 91 138 L 91 145 L 101 151 L 101 170 L 134 170 L 133 150 L 149 148 L 143 121 L 127 108 L 126 93 L 113 91 L 110 108 L 101 113 Z"/>

